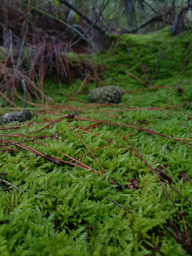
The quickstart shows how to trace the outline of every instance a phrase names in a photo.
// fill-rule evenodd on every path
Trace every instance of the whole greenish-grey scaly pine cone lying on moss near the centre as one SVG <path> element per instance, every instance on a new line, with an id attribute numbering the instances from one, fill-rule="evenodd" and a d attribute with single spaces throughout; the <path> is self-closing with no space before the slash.
<path id="1" fill-rule="evenodd" d="M 122 100 L 122 91 L 114 85 L 95 88 L 89 93 L 90 102 L 119 103 Z"/>

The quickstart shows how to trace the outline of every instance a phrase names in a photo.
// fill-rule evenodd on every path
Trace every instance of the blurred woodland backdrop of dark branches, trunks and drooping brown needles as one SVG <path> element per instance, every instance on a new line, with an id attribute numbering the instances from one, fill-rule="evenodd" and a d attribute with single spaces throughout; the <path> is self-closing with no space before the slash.
<path id="1" fill-rule="evenodd" d="M 87 61 L 87 55 L 112 48 L 123 33 L 169 26 L 170 36 L 177 36 L 191 29 L 191 8 L 183 0 L 1 0 L 1 96 L 15 107 L 14 97 L 26 92 L 24 102 L 35 97 L 43 104 L 45 78 L 61 87 L 89 70 L 100 82 L 102 63 L 94 62 L 96 55 Z"/>

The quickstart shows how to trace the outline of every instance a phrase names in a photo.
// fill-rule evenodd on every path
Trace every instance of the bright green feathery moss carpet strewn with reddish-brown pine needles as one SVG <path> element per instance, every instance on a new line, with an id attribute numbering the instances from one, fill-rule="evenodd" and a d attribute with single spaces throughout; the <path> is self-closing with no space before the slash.
<path id="1" fill-rule="evenodd" d="M 1 172 L 7 173 L 4 179 L 25 192 L 21 193 L 13 187 L 9 187 L 10 193 L 1 189 L 1 255 L 190 255 L 189 251 L 182 248 L 186 243 L 186 233 L 181 216 L 159 181 L 129 143 L 153 169 L 156 170 L 159 165 L 164 166 L 161 170 L 171 177 L 171 185 L 190 201 L 192 184 L 188 180 L 183 183 L 179 172 L 183 171 L 192 178 L 192 152 L 187 147 L 192 146 L 128 127 L 130 123 L 142 127 L 147 125 L 152 131 L 169 137 L 191 139 L 184 126 L 186 124 L 189 131 L 192 131 L 189 108 L 191 82 L 181 83 L 182 95 L 175 90 L 180 80 L 191 79 L 190 43 L 189 32 L 176 38 L 169 37 L 167 31 L 148 36 L 122 36 L 108 55 L 99 56 L 107 67 L 104 83 L 117 85 L 124 91 L 139 91 L 124 94 L 119 106 L 93 107 L 94 104 L 85 104 L 89 101 L 87 91 L 83 88 L 85 95 L 76 97 L 85 103 L 73 101 L 73 98 L 69 103 L 65 97 L 70 90 L 69 86 L 63 85 L 63 90 L 58 90 L 56 85 L 54 87 L 51 82 L 47 82 L 49 95 L 65 103 L 65 106 L 71 104 L 73 109 L 63 109 L 62 112 L 47 110 L 45 114 L 36 111 L 33 125 L 21 124 L 15 131 L 1 129 L 1 134 L 24 136 L 1 137 L 14 142 L 33 139 L 27 137 L 29 135 L 41 136 L 41 139 L 35 138 L 22 144 L 46 156 L 72 163 L 60 161 L 58 166 L 54 161 L 35 154 L 35 151 L 32 153 L 18 146 L 9 147 L 19 151 L 1 152 Z M 127 71 L 149 83 L 142 67 L 145 70 L 147 67 L 146 73 L 152 85 L 166 87 L 141 91 L 144 85 L 127 73 L 120 73 L 121 70 Z M 70 93 L 76 92 L 81 83 L 81 80 L 73 81 Z M 94 87 L 93 83 L 89 84 L 88 90 Z M 65 95 L 58 95 L 57 91 Z M 183 107 L 162 108 L 176 105 Z M 50 124 L 48 119 L 53 121 L 75 111 L 78 111 L 80 117 L 63 118 L 46 127 Z M 42 121 L 44 123 L 36 124 Z M 93 154 L 105 174 L 101 175 L 103 171 L 97 161 L 91 154 L 87 154 L 88 149 L 66 123 L 75 129 L 91 151 L 98 149 Z M 90 124 L 95 124 L 95 127 L 85 129 Z M 37 130 L 34 134 L 26 134 Z M 56 132 L 60 133 L 56 139 L 43 138 L 53 136 Z M 123 137 L 129 134 L 126 142 Z M 190 140 L 182 141 L 191 143 Z M 2 141 L 1 145 L 4 143 Z M 105 146 L 107 144 L 110 145 Z M 74 159 L 87 154 L 78 161 L 90 166 L 90 169 L 73 165 L 75 161 L 64 154 Z M 92 169 L 101 174 L 92 173 Z M 109 177 L 122 187 L 112 183 Z M 135 178 L 138 187 L 128 189 L 130 182 L 127 181 L 132 178 Z M 191 239 L 191 204 L 166 183 L 164 186 L 184 215 Z M 132 213 L 102 196 L 121 204 Z M 182 245 L 167 231 L 172 230 L 169 223 L 172 228 L 175 224 L 180 230 Z"/>

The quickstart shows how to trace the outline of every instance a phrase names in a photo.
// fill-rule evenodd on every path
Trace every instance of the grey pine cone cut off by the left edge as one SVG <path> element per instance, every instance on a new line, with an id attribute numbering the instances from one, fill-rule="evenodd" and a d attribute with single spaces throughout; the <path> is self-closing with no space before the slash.
<path id="1" fill-rule="evenodd" d="M 28 110 L 23 111 L 14 111 L 11 113 L 4 114 L 3 117 L 0 117 L 0 125 L 9 124 L 10 122 L 25 122 L 26 120 L 31 119 L 31 112 Z"/>

